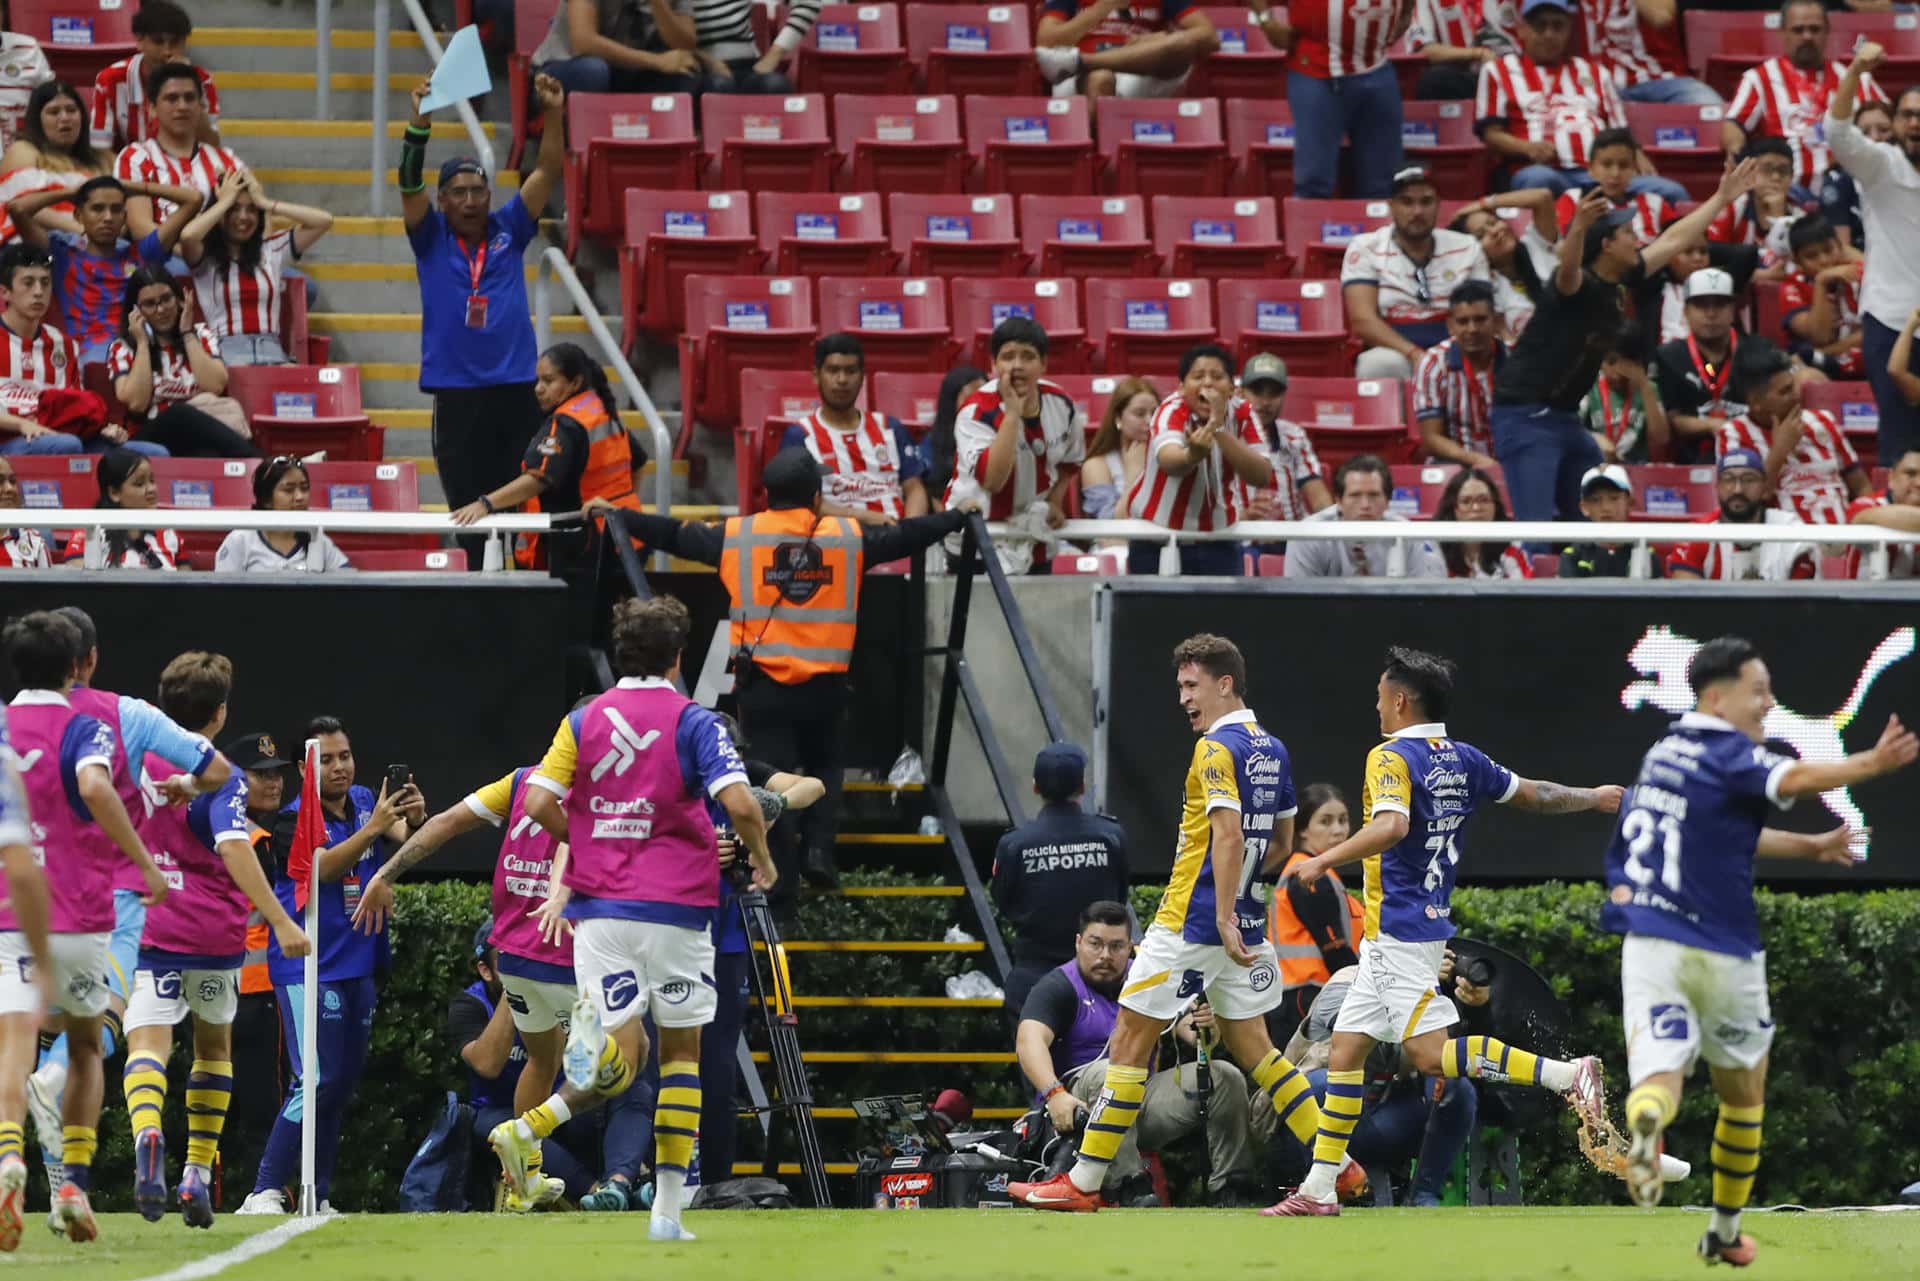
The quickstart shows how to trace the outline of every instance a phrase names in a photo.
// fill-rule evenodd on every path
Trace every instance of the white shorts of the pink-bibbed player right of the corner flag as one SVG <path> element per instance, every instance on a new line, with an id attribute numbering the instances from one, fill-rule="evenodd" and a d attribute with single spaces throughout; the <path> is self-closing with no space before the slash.
<path id="1" fill-rule="evenodd" d="M 647 1012 L 657 1027 L 701 1027 L 720 1006 L 708 930 L 607 916 L 574 922 L 574 978 L 609 1029 Z"/>

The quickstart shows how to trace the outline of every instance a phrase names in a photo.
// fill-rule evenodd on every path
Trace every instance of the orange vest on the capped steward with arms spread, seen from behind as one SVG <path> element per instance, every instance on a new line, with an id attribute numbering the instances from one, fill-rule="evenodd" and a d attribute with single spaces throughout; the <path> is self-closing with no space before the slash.
<path id="1" fill-rule="evenodd" d="M 852 663 L 866 553 L 860 526 L 783 507 L 726 522 L 720 582 L 733 597 L 733 655 L 797 686 Z"/>

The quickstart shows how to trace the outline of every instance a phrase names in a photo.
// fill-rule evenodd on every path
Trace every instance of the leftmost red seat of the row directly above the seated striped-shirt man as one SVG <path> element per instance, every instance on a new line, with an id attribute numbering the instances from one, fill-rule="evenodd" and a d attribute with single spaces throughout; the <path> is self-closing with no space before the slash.
<path id="1" fill-rule="evenodd" d="M 687 277 L 687 328 L 680 336 L 682 457 L 693 424 L 739 423 L 741 371 L 810 369 L 814 286 L 806 277 Z"/>

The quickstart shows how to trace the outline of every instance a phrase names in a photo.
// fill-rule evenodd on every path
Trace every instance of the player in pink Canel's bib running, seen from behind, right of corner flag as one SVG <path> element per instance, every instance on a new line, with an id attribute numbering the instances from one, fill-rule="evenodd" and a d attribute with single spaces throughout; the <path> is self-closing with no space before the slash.
<path id="1" fill-rule="evenodd" d="M 561 722 L 526 791 L 526 814 L 568 845 L 561 880 L 576 922 L 580 999 L 563 1054 L 566 1085 L 488 1135 L 509 1187 L 532 1198 L 534 1147 L 576 1110 L 634 1083 L 647 1062 L 639 1016 L 651 1012 L 660 1029 L 653 1241 L 693 1239 L 680 1223 L 680 1195 L 701 1127 L 701 1027 L 718 1004 L 710 930 L 720 878 L 705 797 L 745 843 L 753 883 L 764 889 L 778 876 L 733 741 L 674 688 L 687 626 L 687 607 L 670 595 L 614 607 L 620 684 Z M 576 761 L 593 764 L 576 776 Z"/>

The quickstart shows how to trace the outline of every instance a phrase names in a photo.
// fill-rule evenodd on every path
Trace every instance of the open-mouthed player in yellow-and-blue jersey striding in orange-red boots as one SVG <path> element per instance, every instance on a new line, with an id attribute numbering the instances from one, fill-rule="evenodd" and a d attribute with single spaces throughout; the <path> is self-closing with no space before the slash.
<path id="1" fill-rule="evenodd" d="M 1319 1129 L 1306 1074 L 1267 1039 L 1265 1014 L 1281 1003 L 1281 966 L 1265 939 L 1267 908 L 1250 895 L 1261 866 L 1277 866 L 1294 847 L 1286 747 L 1248 709 L 1246 659 L 1231 640 L 1183 640 L 1173 647 L 1173 670 L 1181 711 L 1200 736 L 1187 768 L 1173 876 L 1119 989 L 1106 1087 L 1081 1131 L 1079 1160 L 1044 1183 L 1008 1185 L 1016 1204 L 1035 1210 L 1092 1212 L 1106 1204 L 1100 1185 L 1139 1120 L 1154 1043 L 1202 991 L 1227 1052 L 1281 1122 L 1300 1143 Z M 1062 1087 L 1046 1093 L 1054 1089 Z M 1346 1191 L 1365 1183 L 1359 1166 L 1342 1173 L 1352 1185 Z"/>

